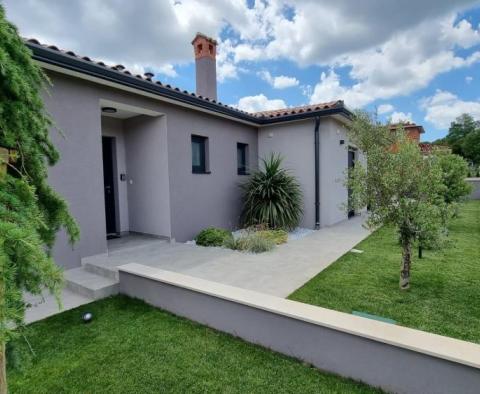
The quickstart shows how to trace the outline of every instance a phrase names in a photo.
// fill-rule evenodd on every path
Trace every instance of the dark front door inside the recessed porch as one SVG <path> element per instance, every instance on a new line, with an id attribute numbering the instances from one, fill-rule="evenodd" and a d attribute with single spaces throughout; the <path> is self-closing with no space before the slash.
<path id="1" fill-rule="evenodd" d="M 115 189 L 113 170 L 113 137 L 102 137 L 103 150 L 103 186 L 105 193 L 105 221 L 107 224 L 107 238 L 117 234 L 115 218 Z"/>

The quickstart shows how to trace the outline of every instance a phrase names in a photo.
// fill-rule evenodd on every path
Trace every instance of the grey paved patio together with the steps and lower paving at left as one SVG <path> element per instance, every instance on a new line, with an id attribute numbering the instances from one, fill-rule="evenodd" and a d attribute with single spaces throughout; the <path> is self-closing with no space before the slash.
<path id="1" fill-rule="evenodd" d="M 67 283 L 75 278 L 82 283 L 74 283 L 63 291 L 64 309 L 98 298 L 79 293 L 78 289 L 84 285 L 100 289 L 100 292 L 107 287 L 113 289 L 118 281 L 117 267 L 128 263 L 287 297 L 366 238 L 369 231 L 362 226 L 364 220 L 365 217 L 357 216 L 262 254 L 169 243 L 135 235 L 114 239 L 109 241 L 108 254 L 85 258 L 82 268 L 66 271 Z M 30 303 L 33 307 L 27 311 L 27 322 L 59 312 L 55 299 L 49 295 L 44 298 L 30 296 Z"/>

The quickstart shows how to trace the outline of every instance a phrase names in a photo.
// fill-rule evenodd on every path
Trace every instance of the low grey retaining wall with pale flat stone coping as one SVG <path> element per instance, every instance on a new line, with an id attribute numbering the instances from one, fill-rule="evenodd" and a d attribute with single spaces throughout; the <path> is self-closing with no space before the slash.
<path id="1" fill-rule="evenodd" d="M 120 292 L 396 393 L 478 393 L 480 346 L 140 264 Z"/>

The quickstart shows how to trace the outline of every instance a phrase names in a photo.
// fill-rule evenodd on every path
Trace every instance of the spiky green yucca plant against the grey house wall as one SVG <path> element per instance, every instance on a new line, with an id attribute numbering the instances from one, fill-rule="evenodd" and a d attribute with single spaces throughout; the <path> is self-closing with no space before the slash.
<path id="1" fill-rule="evenodd" d="M 272 153 L 262 159 L 262 169 L 241 185 L 242 223 L 266 224 L 272 229 L 291 230 L 303 214 L 302 191 L 297 179 L 281 167 L 282 157 Z"/>

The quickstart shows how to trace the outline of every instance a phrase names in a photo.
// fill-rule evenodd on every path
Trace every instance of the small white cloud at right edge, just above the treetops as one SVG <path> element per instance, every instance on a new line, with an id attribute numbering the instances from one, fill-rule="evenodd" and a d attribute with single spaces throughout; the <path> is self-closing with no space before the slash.
<path id="1" fill-rule="evenodd" d="M 433 96 L 423 99 L 421 108 L 426 112 L 425 120 L 439 129 L 448 129 L 450 123 L 464 113 L 480 119 L 479 101 L 463 101 L 443 90 L 437 90 Z"/>

